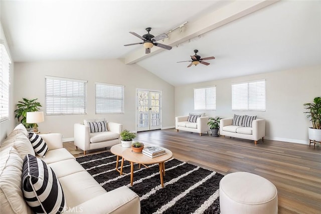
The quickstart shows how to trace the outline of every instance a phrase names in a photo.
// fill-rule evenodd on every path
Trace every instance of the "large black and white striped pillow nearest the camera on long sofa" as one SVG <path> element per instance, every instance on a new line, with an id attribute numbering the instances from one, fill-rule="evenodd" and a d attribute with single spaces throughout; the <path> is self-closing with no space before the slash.
<path id="1" fill-rule="evenodd" d="M 26 202 L 36 213 L 61 213 L 67 206 L 54 171 L 31 154 L 24 159 L 22 188 Z"/>

